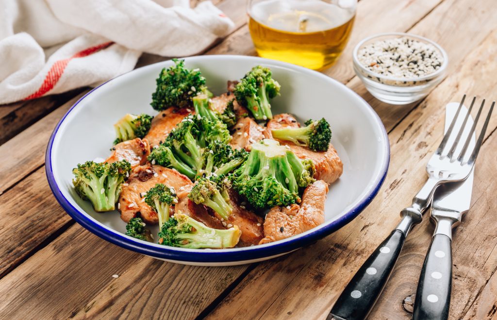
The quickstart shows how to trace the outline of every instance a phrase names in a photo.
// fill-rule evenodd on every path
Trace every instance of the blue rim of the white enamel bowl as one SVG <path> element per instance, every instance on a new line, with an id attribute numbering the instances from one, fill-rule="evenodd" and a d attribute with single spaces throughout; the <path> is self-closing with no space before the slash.
<path id="1" fill-rule="evenodd" d="M 383 165 L 381 172 L 383 174 L 376 179 L 376 181 L 373 183 L 373 186 L 370 187 L 370 192 L 369 194 L 365 195 L 358 205 L 356 205 L 354 208 L 349 210 L 346 213 L 342 213 L 336 220 L 331 221 L 330 223 L 326 224 L 323 227 L 320 227 L 319 229 L 315 230 L 314 232 L 310 232 L 305 235 L 301 235 L 296 238 L 289 238 L 285 241 L 279 242 L 276 241 L 274 243 L 271 243 L 271 245 L 268 246 L 253 246 L 253 247 L 246 247 L 244 250 L 205 250 L 205 249 L 179 249 L 179 248 L 170 248 L 167 246 L 164 247 L 157 247 L 157 246 L 152 246 L 150 244 L 145 243 L 144 241 L 140 240 L 135 240 L 132 239 L 131 237 L 125 236 L 124 234 L 118 233 L 118 232 L 109 232 L 106 228 L 104 228 L 102 225 L 99 225 L 95 223 L 94 221 L 90 220 L 88 217 L 86 217 L 82 212 L 80 212 L 77 208 L 75 208 L 69 200 L 62 194 L 57 182 L 55 181 L 55 176 L 53 174 L 53 169 L 52 169 L 52 159 L 51 159 L 51 154 L 52 154 L 52 147 L 53 143 L 55 140 L 55 137 L 57 135 L 57 132 L 66 119 L 66 117 L 71 113 L 71 111 L 89 94 L 91 94 L 93 91 L 98 89 L 100 86 L 104 85 L 105 83 L 112 81 L 118 77 L 121 77 L 123 75 L 120 75 L 118 77 L 115 77 L 111 80 L 108 80 L 97 87 L 93 88 L 89 92 L 83 95 L 71 108 L 66 112 L 66 114 L 62 117 L 62 119 L 59 121 L 57 126 L 55 127 L 48 146 L 47 146 L 47 151 L 45 154 L 45 173 L 47 176 L 47 180 L 50 186 L 50 189 L 52 190 L 52 193 L 54 194 L 55 198 L 59 202 L 59 204 L 62 206 L 62 208 L 76 221 L 78 222 L 83 228 L 86 230 L 90 231 L 91 233 L 95 234 L 96 236 L 107 240 L 113 244 L 119 245 L 123 248 L 139 252 L 145 255 L 149 255 L 155 258 L 160 258 L 160 259 L 167 259 L 167 260 L 174 260 L 178 262 L 197 262 L 197 263 L 223 263 L 223 262 L 237 262 L 237 261 L 246 261 L 246 260 L 254 260 L 254 259 L 260 259 L 260 258 L 266 258 L 266 257 L 272 257 L 280 254 L 284 254 L 293 250 L 296 250 L 300 247 L 309 245 L 317 240 L 320 240 L 331 233 L 335 232 L 336 230 L 342 228 L 346 224 L 348 224 L 350 221 L 352 221 L 354 218 L 356 218 L 359 213 L 364 210 L 369 203 L 374 199 L 374 197 L 377 195 L 379 192 L 383 182 L 385 181 L 387 172 L 388 172 L 388 167 L 390 163 L 390 143 L 388 139 L 388 134 L 385 130 L 385 127 L 383 126 L 383 122 L 381 121 L 380 117 L 378 114 L 374 111 L 374 109 L 367 103 L 361 96 L 359 96 L 357 93 L 352 91 L 350 88 L 346 87 L 343 83 L 334 80 L 326 75 L 323 75 L 319 72 L 315 72 L 303 67 L 291 65 L 288 63 L 284 62 L 279 62 L 275 60 L 269 60 L 269 59 L 263 59 L 263 58 L 258 58 L 258 57 L 246 57 L 246 56 L 228 56 L 228 55 L 217 55 L 217 56 L 195 56 L 195 57 L 187 57 L 184 59 L 199 59 L 203 60 L 217 57 L 220 59 L 223 58 L 234 58 L 236 57 L 237 59 L 256 59 L 260 61 L 262 64 L 264 62 L 270 63 L 273 65 L 280 65 L 282 67 L 294 69 L 296 71 L 305 71 L 305 72 L 313 72 L 316 74 L 318 77 L 325 77 L 330 81 L 333 81 L 339 85 L 342 85 L 346 90 L 349 90 L 352 92 L 354 95 L 356 95 L 359 99 L 361 99 L 365 105 L 370 109 L 371 114 L 375 116 L 376 122 L 380 125 L 380 127 L 383 129 L 382 133 L 385 139 L 385 155 L 386 157 L 383 159 Z M 164 62 L 159 62 L 157 64 L 165 64 L 169 61 L 164 61 Z M 157 65 L 154 64 L 154 65 Z M 149 65 L 145 66 L 142 68 L 148 68 L 154 65 Z M 141 69 L 141 68 L 139 68 Z M 136 69 L 135 69 L 136 70 Z M 135 71 L 133 70 L 133 71 Z M 130 72 L 133 72 L 130 71 Z M 179 249 L 179 250 L 178 250 Z"/>

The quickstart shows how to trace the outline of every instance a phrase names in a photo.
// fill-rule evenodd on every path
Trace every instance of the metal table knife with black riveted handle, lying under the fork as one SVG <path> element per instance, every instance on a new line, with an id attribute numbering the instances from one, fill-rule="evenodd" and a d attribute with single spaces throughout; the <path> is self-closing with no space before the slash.
<path id="1" fill-rule="evenodd" d="M 462 215 L 470 209 L 473 175 L 474 169 L 465 181 L 445 184 L 435 191 L 430 217 L 436 228 L 417 284 L 414 320 L 448 318 L 452 288 L 452 229 L 461 223 Z"/>

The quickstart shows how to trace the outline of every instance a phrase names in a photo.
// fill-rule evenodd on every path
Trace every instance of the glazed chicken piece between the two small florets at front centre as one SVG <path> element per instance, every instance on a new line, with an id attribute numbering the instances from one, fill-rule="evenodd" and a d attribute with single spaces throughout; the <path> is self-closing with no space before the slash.
<path id="1" fill-rule="evenodd" d="M 188 199 L 188 193 L 191 191 L 192 186 L 187 185 L 177 193 L 178 198 L 181 200 L 174 206 L 174 212 L 181 212 L 213 229 L 226 229 L 221 220 L 209 214 L 205 206 Z"/>

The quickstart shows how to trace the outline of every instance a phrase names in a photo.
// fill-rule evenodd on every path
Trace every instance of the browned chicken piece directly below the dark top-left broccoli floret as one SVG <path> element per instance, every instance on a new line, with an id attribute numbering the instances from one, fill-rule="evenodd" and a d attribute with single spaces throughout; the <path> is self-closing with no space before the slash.
<path id="1" fill-rule="evenodd" d="M 189 110 L 189 111 L 188 111 Z M 193 109 L 169 107 L 161 111 L 152 120 L 152 127 L 149 133 L 145 136 L 152 147 L 160 145 L 166 139 L 167 134 L 176 127 L 189 113 L 193 113 Z"/>

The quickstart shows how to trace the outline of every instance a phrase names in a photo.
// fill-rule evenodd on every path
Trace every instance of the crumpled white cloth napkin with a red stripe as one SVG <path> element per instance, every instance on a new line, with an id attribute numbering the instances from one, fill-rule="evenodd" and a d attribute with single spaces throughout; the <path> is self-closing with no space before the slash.
<path id="1" fill-rule="evenodd" d="M 233 22 L 210 1 L 0 0 L 0 104 L 94 86 L 142 52 L 201 52 Z"/>

